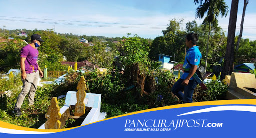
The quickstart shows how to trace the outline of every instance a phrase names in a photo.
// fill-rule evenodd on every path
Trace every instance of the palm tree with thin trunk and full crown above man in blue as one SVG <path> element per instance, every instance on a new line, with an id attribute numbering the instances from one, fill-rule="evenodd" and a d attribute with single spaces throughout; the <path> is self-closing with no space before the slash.
<path id="1" fill-rule="evenodd" d="M 217 17 L 219 16 L 219 14 L 221 14 L 221 17 L 226 17 L 228 12 L 228 6 L 224 2 L 224 0 L 205 0 L 204 3 L 202 4 L 203 1 L 204 0 L 194 0 L 194 3 L 200 4 L 200 6 L 196 9 L 196 18 L 203 18 L 204 14 L 207 12 L 207 16 L 204 19 L 204 22 L 209 24 L 208 43 L 205 60 L 205 70 L 207 70 L 207 58 L 211 25 L 214 25 L 218 22 Z"/>

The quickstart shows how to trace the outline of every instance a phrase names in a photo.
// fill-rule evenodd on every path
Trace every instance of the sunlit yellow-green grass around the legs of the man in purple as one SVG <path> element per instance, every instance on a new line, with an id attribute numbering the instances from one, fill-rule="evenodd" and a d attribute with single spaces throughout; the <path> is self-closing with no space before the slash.
<path id="1" fill-rule="evenodd" d="M 12 111 L 17 101 L 16 98 L 21 91 L 21 86 L 20 75 L 9 80 L 0 79 L 0 120 L 18 126 L 39 128 L 46 121 L 45 113 L 53 97 L 51 94 L 53 85 L 38 87 L 34 99 L 35 104 L 32 106 L 28 105 L 26 96 L 21 108 L 23 114 L 16 117 Z M 12 91 L 9 96 L 3 94 L 7 90 Z M 59 99 L 59 106 L 62 107 L 64 102 L 65 98 Z"/>

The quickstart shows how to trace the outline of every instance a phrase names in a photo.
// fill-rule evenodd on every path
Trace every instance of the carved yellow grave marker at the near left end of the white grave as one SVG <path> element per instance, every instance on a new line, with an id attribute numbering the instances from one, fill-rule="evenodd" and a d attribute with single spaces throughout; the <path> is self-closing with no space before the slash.
<path id="1" fill-rule="evenodd" d="M 60 109 L 58 106 L 57 97 L 53 97 L 51 99 L 50 106 L 48 108 L 47 113 L 45 114 L 45 118 L 48 119 L 45 122 L 45 129 L 59 129 L 61 122 L 61 114 L 59 113 Z"/>

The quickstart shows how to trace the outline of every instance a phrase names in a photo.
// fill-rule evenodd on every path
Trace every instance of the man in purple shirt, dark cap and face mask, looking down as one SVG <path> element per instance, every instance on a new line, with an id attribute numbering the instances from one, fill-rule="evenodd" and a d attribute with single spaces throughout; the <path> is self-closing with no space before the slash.
<path id="1" fill-rule="evenodd" d="M 44 42 L 40 35 L 33 34 L 31 36 L 31 43 L 24 46 L 20 52 L 20 66 L 21 66 L 21 80 L 23 82 L 23 89 L 17 97 L 13 113 L 17 116 L 22 115 L 20 110 L 25 96 L 28 95 L 29 105 L 34 104 L 34 95 L 37 88 L 39 75 L 43 77 L 43 72 L 37 64 L 38 50 L 41 43 Z"/>

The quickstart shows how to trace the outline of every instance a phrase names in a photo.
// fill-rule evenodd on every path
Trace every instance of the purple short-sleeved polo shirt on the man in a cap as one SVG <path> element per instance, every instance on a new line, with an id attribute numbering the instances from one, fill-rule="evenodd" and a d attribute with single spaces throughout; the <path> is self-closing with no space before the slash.
<path id="1" fill-rule="evenodd" d="M 20 57 L 26 58 L 25 60 L 25 71 L 30 74 L 38 70 L 37 58 L 38 50 L 33 48 L 31 45 L 26 45 L 21 49 Z"/>

